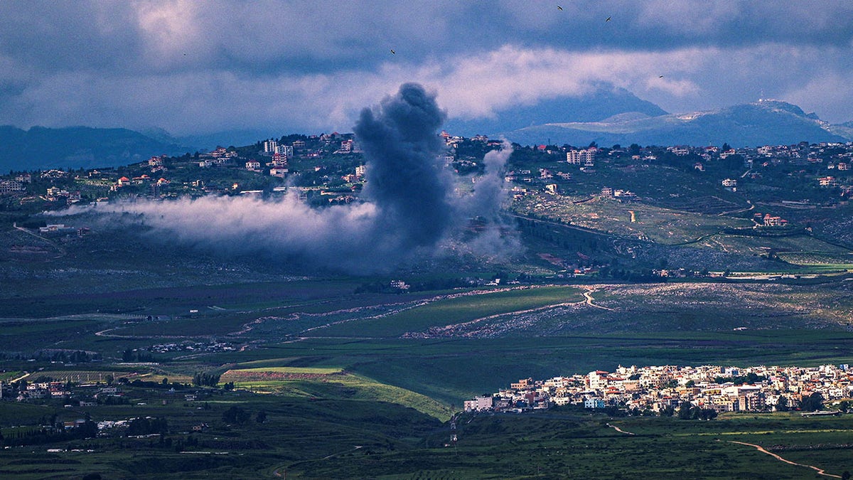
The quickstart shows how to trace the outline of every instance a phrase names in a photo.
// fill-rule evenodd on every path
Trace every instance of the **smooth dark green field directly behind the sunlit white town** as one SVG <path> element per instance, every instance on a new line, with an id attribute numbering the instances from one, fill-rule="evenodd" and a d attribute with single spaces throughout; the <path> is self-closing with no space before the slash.
<path id="1" fill-rule="evenodd" d="M 575 337 L 331 339 L 256 351 L 299 366 L 344 366 L 376 382 L 456 408 L 519 378 L 551 378 L 618 365 L 803 365 L 850 363 L 849 331 L 670 331 Z"/>

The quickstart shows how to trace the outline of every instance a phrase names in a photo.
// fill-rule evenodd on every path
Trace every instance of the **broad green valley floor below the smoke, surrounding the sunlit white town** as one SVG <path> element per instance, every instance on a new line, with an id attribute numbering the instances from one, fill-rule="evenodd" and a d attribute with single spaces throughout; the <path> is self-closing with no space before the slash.
<path id="1" fill-rule="evenodd" d="M 585 280 L 404 294 L 356 293 L 368 283 L 364 279 L 280 279 L 10 295 L 3 308 L 11 318 L 3 320 L 0 334 L 5 381 L 26 375 L 31 382 L 103 386 L 110 377 L 124 395 L 119 404 L 90 407 L 78 407 L 78 400 L 90 401 L 98 387 L 68 400 L 4 399 L 4 438 L 14 445 L 17 434 L 39 430 L 54 416 L 165 418 L 168 430 L 140 438 L 109 430 L 97 438 L 13 446 L 0 451 L 0 476 L 813 475 L 729 441 L 762 445 L 840 475 L 853 460 L 844 447 L 853 432 L 849 415 L 723 415 L 693 422 L 611 419 L 558 408 L 462 416 L 456 419 L 456 444 L 448 420 L 461 401 L 519 378 L 613 371 L 618 365 L 850 363 L 853 290 L 842 278 Z M 105 312 L 109 305 L 113 310 Z M 148 314 L 169 319 L 148 320 Z M 220 344 L 229 348 L 212 347 Z M 75 350 L 102 360 L 49 360 Z M 25 358 L 37 351 L 41 360 Z M 129 351 L 151 361 L 122 361 Z M 198 372 L 221 375 L 218 388 L 189 385 Z M 231 382 L 233 391 L 223 388 Z M 226 420 L 233 407 L 245 418 Z M 636 435 L 619 434 L 607 423 Z M 48 452 L 57 448 L 63 451 Z"/>

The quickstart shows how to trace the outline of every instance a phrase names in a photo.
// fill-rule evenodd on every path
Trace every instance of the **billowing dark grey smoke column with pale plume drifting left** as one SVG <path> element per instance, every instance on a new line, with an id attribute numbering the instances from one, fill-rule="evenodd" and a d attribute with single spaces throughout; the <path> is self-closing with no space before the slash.
<path id="1" fill-rule="evenodd" d="M 314 209 L 296 194 L 268 201 L 205 196 L 120 202 L 92 211 L 111 214 L 111 224 L 117 219 L 144 223 L 160 239 L 224 255 L 266 255 L 348 272 L 389 270 L 436 255 L 451 242 L 458 246 L 457 234 L 472 217 L 492 226 L 467 238 L 467 245 L 475 246 L 468 251 L 498 255 L 514 249 L 497 221 L 511 149 L 507 144 L 487 155 L 486 173 L 473 193 L 455 195 L 453 178 L 438 161 L 443 121 L 435 95 L 416 84 L 404 84 L 396 95 L 363 110 L 355 126 L 367 166 L 363 202 Z"/>

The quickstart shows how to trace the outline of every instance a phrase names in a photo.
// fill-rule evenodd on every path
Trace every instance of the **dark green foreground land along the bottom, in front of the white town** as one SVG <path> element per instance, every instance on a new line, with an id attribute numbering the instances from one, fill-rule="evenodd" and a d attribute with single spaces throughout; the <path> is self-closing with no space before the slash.
<path id="1" fill-rule="evenodd" d="M 169 448 L 159 438 L 118 437 L 70 442 L 60 453 L 46 451 L 53 445 L 12 448 L 0 451 L 0 472 L 16 478 L 86 473 L 159 478 L 815 477 L 807 467 L 734 442 L 757 444 L 831 475 L 850 471 L 853 462 L 846 447 L 853 433 L 851 415 L 804 419 L 797 413 L 728 413 L 699 421 L 609 418 L 564 407 L 544 413 L 463 414 L 451 430 L 449 423 L 381 402 L 245 394 L 232 398 L 239 401 L 212 400 L 209 408 L 200 410 L 179 404 L 158 407 L 159 413 L 154 407 L 136 410 L 169 419 Z M 224 423 L 222 413 L 235 405 L 252 416 L 264 411 L 266 420 Z M 209 428 L 182 432 L 200 422 Z M 635 435 L 619 433 L 608 424 Z M 3 429 L 4 434 L 8 431 Z M 456 442 L 451 442 L 451 434 Z M 184 446 L 183 452 L 174 448 L 190 440 L 193 445 Z"/>

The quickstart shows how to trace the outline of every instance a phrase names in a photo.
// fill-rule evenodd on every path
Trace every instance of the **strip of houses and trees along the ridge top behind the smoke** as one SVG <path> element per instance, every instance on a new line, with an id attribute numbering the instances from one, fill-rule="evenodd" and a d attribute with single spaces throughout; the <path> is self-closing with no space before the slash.
<path id="1" fill-rule="evenodd" d="M 482 135 L 463 138 L 441 132 L 441 138 L 447 146 L 442 160 L 460 175 L 480 173 L 483 155 L 503 144 Z M 801 142 L 750 149 L 733 149 L 728 144 L 611 148 L 514 144 L 506 179 L 514 184 L 516 196 L 531 189 L 559 195 L 571 188 L 578 174 L 595 176 L 601 169 L 649 164 L 717 174 L 719 178 L 711 181 L 732 191 L 746 183 L 776 186 L 780 182 L 820 187 L 827 194 L 836 192 L 839 200 L 853 191 L 853 143 Z M 136 196 L 272 195 L 290 187 L 320 206 L 355 200 L 365 173 L 361 150 L 351 133 L 290 135 L 194 155 L 153 156 L 127 167 L 10 172 L 0 177 L 0 204 L 7 210 L 28 204 L 51 209 Z M 587 193 L 623 202 L 639 199 L 612 184 Z"/>

